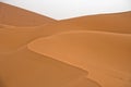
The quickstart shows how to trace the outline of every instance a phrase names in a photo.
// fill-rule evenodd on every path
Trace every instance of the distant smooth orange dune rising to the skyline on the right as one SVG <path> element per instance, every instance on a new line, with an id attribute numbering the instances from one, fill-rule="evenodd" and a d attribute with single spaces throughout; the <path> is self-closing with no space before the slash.
<path id="1" fill-rule="evenodd" d="M 78 27 L 92 27 L 91 30 L 105 30 L 131 34 L 131 12 L 82 16 L 62 21 Z"/>

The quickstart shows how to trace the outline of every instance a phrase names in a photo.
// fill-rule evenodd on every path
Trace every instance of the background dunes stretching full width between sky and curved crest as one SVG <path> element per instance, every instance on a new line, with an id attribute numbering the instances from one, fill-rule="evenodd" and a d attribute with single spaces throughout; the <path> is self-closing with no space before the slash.
<path id="1" fill-rule="evenodd" d="M 34 14 L 12 5 L 8 5 L 4 3 L 1 3 L 1 5 L 5 8 L 4 10 L 2 9 L 3 10 L 2 14 L 4 16 L 8 12 L 12 13 L 12 15 L 10 16 L 7 15 L 4 18 L 3 16 L 1 16 L 2 17 L 1 18 L 2 24 L 0 25 L 0 35 L 1 35 L 0 39 L 2 42 L 0 45 L 1 53 L 7 53 L 17 50 L 19 48 L 31 42 L 34 39 L 37 39 L 39 37 L 47 37 L 61 32 L 98 30 L 98 32 L 111 32 L 111 33 L 121 33 L 121 34 L 131 33 L 131 26 L 130 26 L 131 12 L 84 16 L 84 17 L 76 17 L 72 20 L 56 22 L 46 16 Z M 19 13 L 22 12 L 21 13 L 22 15 L 26 14 L 26 16 L 24 16 L 26 20 L 24 18 L 21 20 L 20 17 L 21 15 L 17 15 L 15 12 Z M 13 13 L 17 16 L 15 16 Z M 31 21 L 28 16 L 31 16 L 31 20 L 34 18 L 35 22 Z M 37 16 L 40 16 L 40 18 L 38 18 Z M 14 22 L 14 20 L 11 20 L 13 17 L 20 22 Z M 39 23 L 40 21 L 43 21 L 43 23 Z"/>

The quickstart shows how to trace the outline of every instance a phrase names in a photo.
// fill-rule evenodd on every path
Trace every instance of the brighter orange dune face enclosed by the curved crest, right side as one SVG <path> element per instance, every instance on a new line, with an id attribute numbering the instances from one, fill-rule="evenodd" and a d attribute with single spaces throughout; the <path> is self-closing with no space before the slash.
<path id="1" fill-rule="evenodd" d="M 103 87 L 131 83 L 131 35 L 75 30 L 39 38 L 28 48 L 88 71 Z"/>

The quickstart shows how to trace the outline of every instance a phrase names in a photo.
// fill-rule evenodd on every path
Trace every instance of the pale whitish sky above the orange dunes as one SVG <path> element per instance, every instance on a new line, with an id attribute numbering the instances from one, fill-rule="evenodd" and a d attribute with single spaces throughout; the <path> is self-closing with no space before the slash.
<path id="1" fill-rule="evenodd" d="M 56 20 L 131 11 L 131 0 L 1 0 Z"/>

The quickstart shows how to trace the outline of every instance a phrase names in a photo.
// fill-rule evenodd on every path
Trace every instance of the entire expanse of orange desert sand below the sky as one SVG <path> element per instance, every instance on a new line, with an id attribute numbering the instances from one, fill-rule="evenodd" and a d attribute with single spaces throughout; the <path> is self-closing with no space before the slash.
<path id="1" fill-rule="evenodd" d="M 131 86 L 131 12 L 55 21 L 1 5 L 2 87 Z"/>

